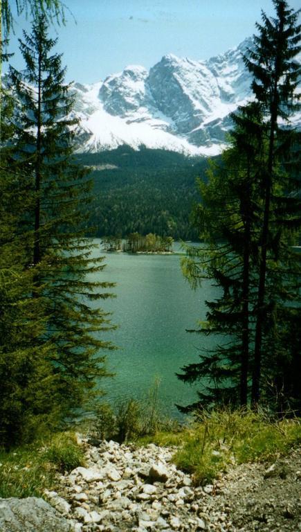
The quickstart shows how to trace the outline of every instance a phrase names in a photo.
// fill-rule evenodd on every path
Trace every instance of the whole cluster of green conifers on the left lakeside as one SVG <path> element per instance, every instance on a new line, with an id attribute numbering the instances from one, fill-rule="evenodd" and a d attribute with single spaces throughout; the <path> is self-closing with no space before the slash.
<path id="1" fill-rule="evenodd" d="M 10 432 L 15 441 L 28 414 L 41 421 L 42 414 L 53 412 L 53 426 L 71 416 L 93 391 L 95 379 L 107 375 L 100 349 L 113 347 L 99 337 L 112 326 L 97 304 L 110 296 L 112 283 L 87 278 L 104 267 L 102 258 L 91 258 L 93 246 L 84 236 L 82 205 L 89 202 L 91 181 L 72 158 L 73 98 L 64 85 L 61 55 L 51 55 L 56 40 L 49 39 L 47 31 L 40 13 L 31 35 L 24 32 L 20 41 L 25 71 L 10 69 L 10 91 L 17 105 L 6 114 L 10 134 L 2 159 L 6 194 L 1 208 L 8 238 L 1 242 L 1 266 L 10 257 L 15 265 L 10 283 L 1 285 L 6 291 L 1 318 L 7 332 L 1 337 L 0 367 L 8 387 L 15 387 L 21 365 L 19 425 Z M 21 206 L 17 211 L 16 199 Z M 91 301 L 96 302 L 93 308 Z M 14 351 L 15 341 L 22 338 L 27 351 L 19 344 Z M 28 387 L 32 373 L 38 375 L 37 383 L 40 380 L 35 393 Z M 8 422 L 14 417 L 14 401 L 17 404 L 17 394 L 6 396 L 10 402 L 1 397 L 3 441 L 8 441 Z"/>

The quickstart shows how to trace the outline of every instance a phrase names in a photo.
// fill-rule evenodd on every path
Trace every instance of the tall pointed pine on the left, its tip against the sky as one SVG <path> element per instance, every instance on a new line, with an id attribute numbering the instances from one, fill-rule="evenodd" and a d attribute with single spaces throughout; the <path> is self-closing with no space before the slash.
<path id="1" fill-rule="evenodd" d="M 51 55 L 56 39 L 47 36 L 42 14 L 31 35 L 20 40 L 26 69 L 10 69 L 11 89 L 17 98 L 13 150 L 15 164 L 28 176 L 33 199 L 26 222 L 31 230 L 28 268 L 33 271 L 32 298 L 44 308 L 48 361 L 56 375 L 64 413 L 71 414 L 107 375 L 100 349 L 112 348 L 100 339 L 111 324 L 93 301 L 110 296 L 112 284 L 89 281 L 100 273 L 102 258 L 91 258 L 83 206 L 89 202 L 91 181 L 72 158 L 77 121 L 73 117 L 71 87 L 64 85 L 62 56 Z"/>

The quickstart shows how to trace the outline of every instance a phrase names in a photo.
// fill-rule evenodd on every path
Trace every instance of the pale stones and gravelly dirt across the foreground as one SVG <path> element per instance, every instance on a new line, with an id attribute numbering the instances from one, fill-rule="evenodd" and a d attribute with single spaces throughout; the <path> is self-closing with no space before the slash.
<path id="1" fill-rule="evenodd" d="M 301 531 L 300 449 L 273 465 L 233 466 L 214 484 L 195 487 L 176 470 L 172 447 L 84 445 L 86 467 L 62 475 L 57 492 L 45 494 L 62 519 L 47 532 Z"/>

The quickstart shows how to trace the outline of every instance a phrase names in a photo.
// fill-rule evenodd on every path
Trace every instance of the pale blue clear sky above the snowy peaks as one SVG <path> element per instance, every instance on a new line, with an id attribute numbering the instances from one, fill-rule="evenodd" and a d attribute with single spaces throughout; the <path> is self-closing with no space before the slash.
<path id="1" fill-rule="evenodd" d="M 12 5 L 15 0 L 12 0 Z M 261 10 L 273 15 L 272 0 L 64 0 L 66 25 L 52 29 L 63 53 L 66 81 L 93 83 L 129 64 L 149 69 L 167 53 L 206 60 L 256 33 Z M 289 0 L 298 9 L 300 0 Z M 30 21 L 15 18 L 9 50 L 24 62 L 17 38 Z"/>

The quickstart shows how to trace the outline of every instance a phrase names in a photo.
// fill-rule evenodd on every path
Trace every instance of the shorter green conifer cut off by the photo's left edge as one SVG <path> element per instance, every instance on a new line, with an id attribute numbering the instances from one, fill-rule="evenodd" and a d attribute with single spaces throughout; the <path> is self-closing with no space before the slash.
<path id="1" fill-rule="evenodd" d="M 2 91 L 0 174 L 0 445 L 9 447 L 45 431 L 60 417 L 49 346 L 41 345 L 45 319 L 41 301 L 31 298 L 33 271 L 28 269 L 25 230 L 27 175 L 14 165 L 8 122 L 14 102 Z"/>

